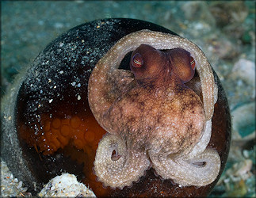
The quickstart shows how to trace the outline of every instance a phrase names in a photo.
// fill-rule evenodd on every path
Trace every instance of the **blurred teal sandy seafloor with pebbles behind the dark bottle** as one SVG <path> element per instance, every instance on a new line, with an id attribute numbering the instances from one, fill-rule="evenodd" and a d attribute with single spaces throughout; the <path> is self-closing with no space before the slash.
<path id="1" fill-rule="evenodd" d="M 150 21 L 197 44 L 224 86 L 231 151 L 210 196 L 255 196 L 255 2 L 1 2 L 2 95 L 15 74 L 61 33 L 107 17 Z M 241 147 L 243 145 L 243 147 Z M 4 162 L 1 196 L 29 196 Z"/>

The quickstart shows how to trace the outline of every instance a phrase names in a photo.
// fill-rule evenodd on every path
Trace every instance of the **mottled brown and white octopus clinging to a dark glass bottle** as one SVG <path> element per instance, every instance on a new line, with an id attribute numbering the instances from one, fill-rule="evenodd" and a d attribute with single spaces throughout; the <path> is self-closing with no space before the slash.
<path id="1" fill-rule="evenodd" d="M 130 51 L 131 70 L 120 69 Z M 186 84 L 195 70 L 202 97 Z M 88 101 L 107 131 L 94 161 L 104 186 L 132 186 L 151 167 L 180 186 L 216 180 L 220 156 L 207 146 L 217 86 L 208 59 L 193 42 L 150 30 L 124 36 L 94 67 Z"/>

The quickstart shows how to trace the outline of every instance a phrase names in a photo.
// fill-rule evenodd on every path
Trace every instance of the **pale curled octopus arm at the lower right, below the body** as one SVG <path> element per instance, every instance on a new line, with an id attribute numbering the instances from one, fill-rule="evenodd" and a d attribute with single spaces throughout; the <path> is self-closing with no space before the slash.
<path id="1" fill-rule="evenodd" d="M 209 185 L 220 172 L 220 156 L 216 150 L 206 149 L 194 158 L 163 158 L 149 154 L 156 172 L 181 186 Z"/>

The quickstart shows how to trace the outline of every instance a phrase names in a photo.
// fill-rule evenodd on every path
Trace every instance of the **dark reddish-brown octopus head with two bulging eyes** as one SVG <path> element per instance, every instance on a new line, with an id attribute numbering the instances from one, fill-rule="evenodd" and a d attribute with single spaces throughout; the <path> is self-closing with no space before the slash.
<path id="1" fill-rule="evenodd" d="M 182 48 L 159 51 L 147 44 L 133 51 L 130 68 L 137 82 L 154 82 L 171 76 L 185 83 L 195 74 L 195 62 L 189 51 Z"/>

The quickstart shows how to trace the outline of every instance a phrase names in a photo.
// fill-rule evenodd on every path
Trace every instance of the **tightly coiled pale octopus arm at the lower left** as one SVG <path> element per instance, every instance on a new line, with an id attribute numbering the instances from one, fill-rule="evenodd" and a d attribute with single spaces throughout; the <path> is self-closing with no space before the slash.
<path id="1" fill-rule="evenodd" d="M 105 186 L 122 189 L 138 181 L 150 165 L 144 152 L 129 150 L 120 136 L 107 134 L 97 147 L 94 172 Z"/>

